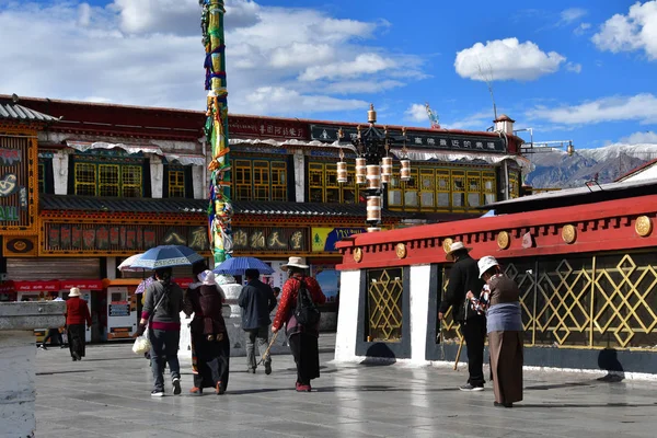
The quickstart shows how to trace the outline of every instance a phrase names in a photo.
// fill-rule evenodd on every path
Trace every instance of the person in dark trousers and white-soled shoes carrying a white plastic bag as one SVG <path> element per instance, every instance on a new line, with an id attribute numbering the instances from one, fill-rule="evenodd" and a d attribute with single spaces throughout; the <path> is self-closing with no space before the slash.
<path id="1" fill-rule="evenodd" d="M 164 366 L 169 364 L 173 394 L 181 393 L 181 366 L 177 358 L 181 339 L 183 290 L 171 281 L 171 268 L 155 269 L 155 281 L 146 290 L 146 301 L 136 336 L 143 335 L 148 325 L 151 343 L 152 396 L 164 395 Z"/>

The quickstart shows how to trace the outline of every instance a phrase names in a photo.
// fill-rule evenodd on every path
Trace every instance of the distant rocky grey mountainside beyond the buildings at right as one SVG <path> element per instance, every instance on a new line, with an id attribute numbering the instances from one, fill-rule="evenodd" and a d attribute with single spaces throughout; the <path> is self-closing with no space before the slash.
<path id="1" fill-rule="evenodd" d="M 596 174 L 599 183 L 611 183 L 632 169 L 657 159 L 657 145 L 614 143 L 575 150 L 573 157 L 563 151 L 527 157 L 534 168 L 527 176 L 527 184 L 537 188 L 579 187 Z"/>

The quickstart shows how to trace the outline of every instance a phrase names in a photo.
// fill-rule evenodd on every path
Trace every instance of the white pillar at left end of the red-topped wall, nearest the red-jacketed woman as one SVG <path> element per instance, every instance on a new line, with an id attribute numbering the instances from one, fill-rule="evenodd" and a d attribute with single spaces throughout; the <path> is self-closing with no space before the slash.
<path id="1" fill-rule="evenodd" d="M 335 361 L 355 361 L 360 301 L 360 270 L 343 270 L 339 276 L 339 312 L 335 335 Z"/>

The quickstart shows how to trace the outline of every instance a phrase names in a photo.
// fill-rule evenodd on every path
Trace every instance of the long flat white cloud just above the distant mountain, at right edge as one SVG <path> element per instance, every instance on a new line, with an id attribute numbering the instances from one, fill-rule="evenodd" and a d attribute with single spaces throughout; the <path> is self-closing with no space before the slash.
<path id="1" fill-rule="evenodd" d="M 538 106 L 527 113 L 530 118 L 543 118 L 564 125 L 598 124 L 603 122 L 635 120 L 657 123 L 657 96 L 642 93 L 633 96 L 602 97 L 574 106 Z"/>

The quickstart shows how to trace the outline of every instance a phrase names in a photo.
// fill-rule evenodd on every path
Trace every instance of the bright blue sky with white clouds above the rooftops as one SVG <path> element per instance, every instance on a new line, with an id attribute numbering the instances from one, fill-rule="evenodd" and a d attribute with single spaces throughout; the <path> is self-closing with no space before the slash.
<path id="1" fill-rule="evenodd" d="M 657 0 L 227 0 L 231 112 L 657 143 Z M 204 106 L 197 0 L 0 0 L 0 93 Z M 36 50 L 35 50 L 36 48 Z M 7 67 L 11 66 L 11 69 Z"/>

